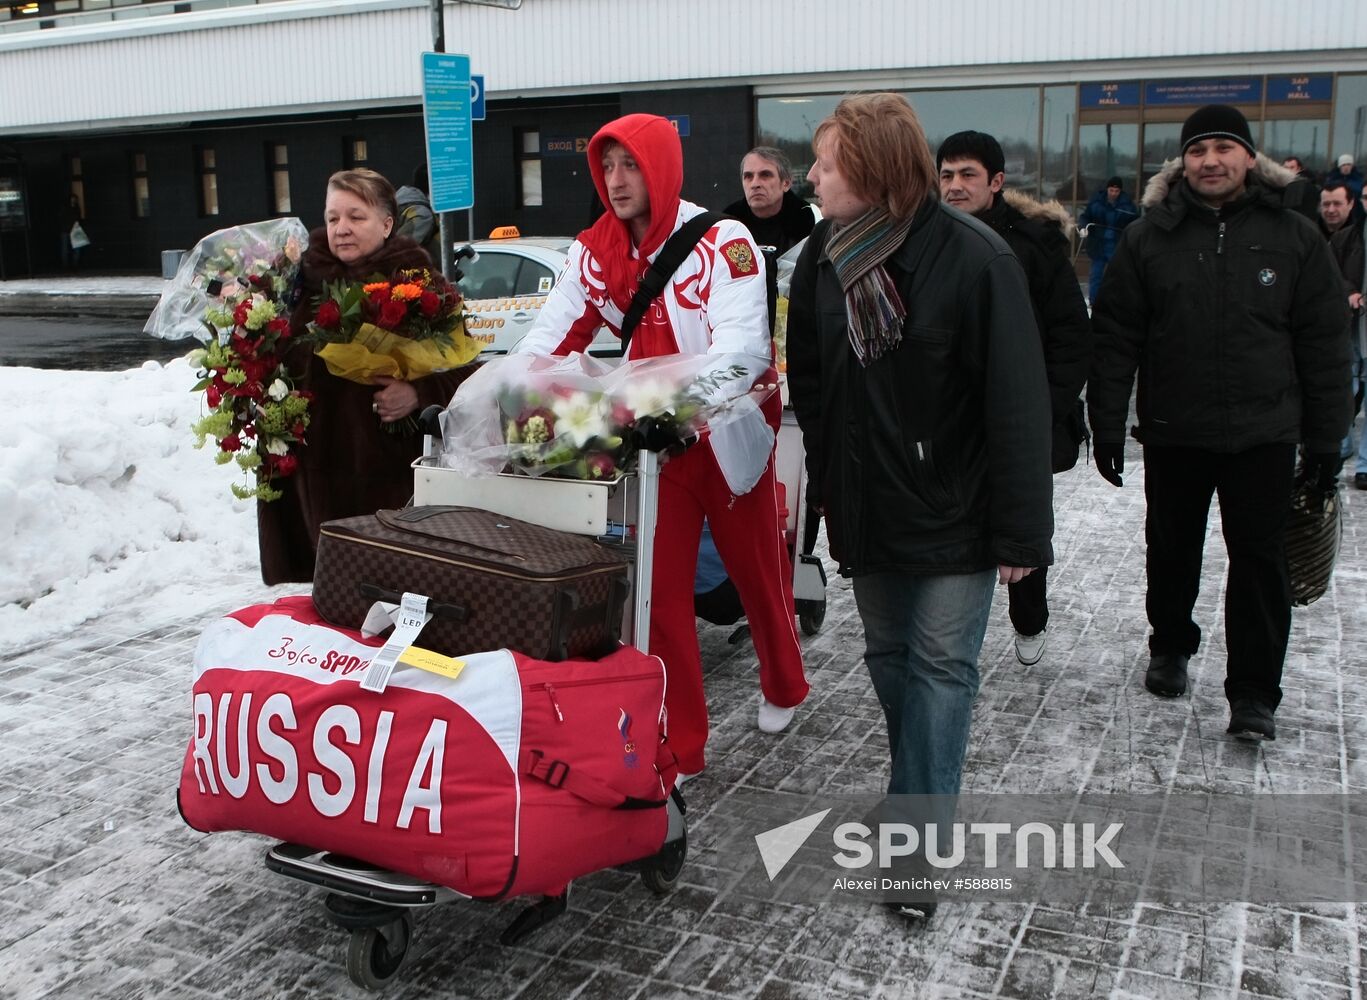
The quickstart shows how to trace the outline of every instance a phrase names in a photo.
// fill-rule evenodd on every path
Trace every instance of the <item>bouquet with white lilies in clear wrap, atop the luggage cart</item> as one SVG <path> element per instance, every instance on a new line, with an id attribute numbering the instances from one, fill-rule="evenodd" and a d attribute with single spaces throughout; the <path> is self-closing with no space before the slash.
<path id="1" fill-rule="evenodd" d="M 617 367 L 584 354 L 495 358 L 447 407 L 442 464 L 473 475 L 509 470 L 614 480 L 642 443 L 667 449 L 725 423 L 735 395 L 755 395 L 750 381 L 749 366 L 716 355 Z"/>

